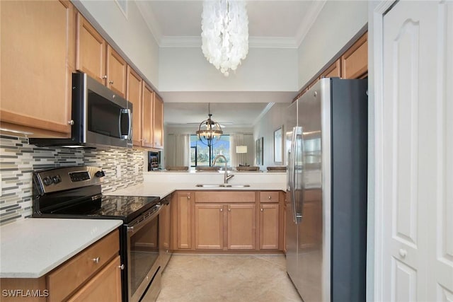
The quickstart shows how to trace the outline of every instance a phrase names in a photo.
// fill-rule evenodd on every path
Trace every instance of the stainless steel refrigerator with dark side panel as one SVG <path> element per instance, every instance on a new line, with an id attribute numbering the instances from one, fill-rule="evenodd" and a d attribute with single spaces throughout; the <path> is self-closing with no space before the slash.
<path id="1" fill-rule="evenodd" d="M 365 301 L 367 80 L 321 79 L 285 131 L 287 273 L 304 302 Z"/>

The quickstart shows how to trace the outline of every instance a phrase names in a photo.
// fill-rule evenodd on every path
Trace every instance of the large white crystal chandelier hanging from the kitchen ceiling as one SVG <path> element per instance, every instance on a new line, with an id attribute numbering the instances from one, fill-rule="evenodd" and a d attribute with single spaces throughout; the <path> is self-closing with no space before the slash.
<path id="1" fill-rule="evenodd" d="M 248 53 L 245 1 L 205 0 L 201 19 L 202 51 L 206 59 L 229 76 Z"/>

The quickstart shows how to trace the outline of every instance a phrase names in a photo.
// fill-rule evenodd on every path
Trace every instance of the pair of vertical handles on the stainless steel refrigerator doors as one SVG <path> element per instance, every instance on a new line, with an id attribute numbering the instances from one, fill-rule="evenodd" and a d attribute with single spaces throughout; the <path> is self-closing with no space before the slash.
<path id="1" fill-rule="evenodd" d="M 293 160 L 293 163 L 292 163 L 292 168 L 293 168 L 293 171 L 292 171 L 292 209 L 293 209 L 293 219 L 294 219 L 294 222 L 296 224 L 299 224 L 302 222 L 302 205 L 303 205 L 303 194 L 304 192 L 301 192 L 302 194 L 296 194 L 296 190 L 297 191 L 301 191 L 300 189 L 302 188 L 299 188 L 299 178 L 297 178 L 297 175 L 299 175 L 300 173 L 299 172 L 303 172 L 303 161 L 304 161 L 304 146 L 303 146 L 303 131 L 302 131 L 302 127 L 294 127 L 293 129 L 293 146 L 294 146 L 294 153 L 293 153 L 293 157 L 292 157 L 292 160 Z M 300 140 L 300 146 L 301 146 L 301 150 L 299 150 L 298 146 L 298 141 Z M 300 160 L 302 161 L 301 163 L 297 163 L 296 161 L 296 158 L 300 158 Z M 296 165 L 297 165 L 297 168 L 296 168 Z M 297 171 L 297 172 L 296 172 Z M 298 197 L 298 199 L 296 198 L 296 196 Z M 299 200 L 300 199 L 300 200 Z M 300 209 L 299 209 L 300 207 Z"/>

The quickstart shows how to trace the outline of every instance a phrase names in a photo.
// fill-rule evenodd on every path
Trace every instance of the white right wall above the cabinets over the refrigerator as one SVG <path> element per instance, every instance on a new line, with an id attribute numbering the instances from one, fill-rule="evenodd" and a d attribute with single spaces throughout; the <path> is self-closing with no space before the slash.
<path id="1" fill-rule="evenodd" d="M 368 1 L 327 1 L 298 50 L 298 90 L 321 71 L 368 21 Z"/>

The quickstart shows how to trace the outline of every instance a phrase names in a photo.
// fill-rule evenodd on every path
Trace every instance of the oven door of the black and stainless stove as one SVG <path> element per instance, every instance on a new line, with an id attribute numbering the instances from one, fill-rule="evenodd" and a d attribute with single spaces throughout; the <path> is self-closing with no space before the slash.
<path id="1" fill-rule="evenodd" d="M 128 301 L 140 301 L 147 291 L 159 294 L 160 205 L 127 225 Z M 146 295 L 149 296 L 149 295 Z"/>

